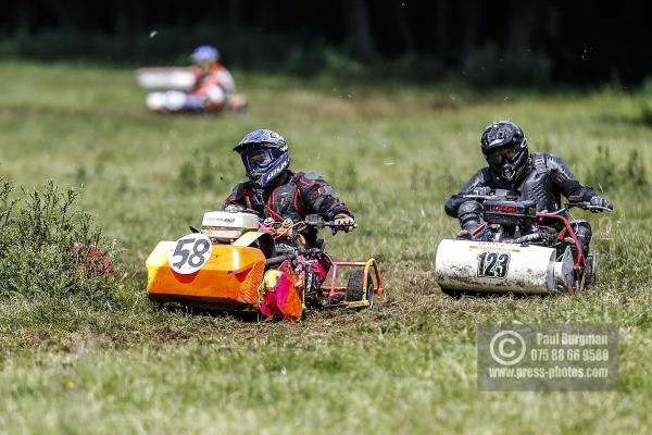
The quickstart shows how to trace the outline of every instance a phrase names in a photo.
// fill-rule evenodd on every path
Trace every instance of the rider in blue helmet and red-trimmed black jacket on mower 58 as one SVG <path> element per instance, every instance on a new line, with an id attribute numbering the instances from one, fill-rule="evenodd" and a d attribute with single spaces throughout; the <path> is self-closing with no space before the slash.
<path id="1" fill-rule="evenodd" d="M 250 209 L 275 221 L 303 221 L 318 214 L 326 221 L 353 224 L 353 213 L 321 175 L 292 172 L 288 169 L 288 146 L 278 133 L 269 129 L 251 132 L 234 148 L 240 153 L 249 181 L 237 184 L 223 208 Z M 349 226 L 350 229 L 353 226 Z M 350 231 L 349 229 L 349 231 Z M 308 234 L 309 243 L 316 233 Z"/>

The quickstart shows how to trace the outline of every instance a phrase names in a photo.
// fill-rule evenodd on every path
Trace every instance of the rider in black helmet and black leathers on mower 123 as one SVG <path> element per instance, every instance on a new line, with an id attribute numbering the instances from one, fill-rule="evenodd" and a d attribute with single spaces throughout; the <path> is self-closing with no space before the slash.
<path id="1" fill-rule="evenodd" d="M 503 189 L 521 199 L 537 202 L 537 211 L 556 211 L 561 196 L 581 197 L 592 206 L 613 209 L 589 186 L 582 186 L 562 159 L 554 154 L 528 153 L 527 139 L 521 127 L 511 121 L 499 121 L 487 126 L 480 139 L 482 154 L 489 163 L 479 170 L 444 206 L 448 215 L 460 219 L 465 232 L 473 232 L 482 223 L 482 206 L 465 195 L 487 195 Z M 588 252 L 591 241 L 591 226 L 586 221 L 575 221 L 577 237 L 582 250 Z"/>

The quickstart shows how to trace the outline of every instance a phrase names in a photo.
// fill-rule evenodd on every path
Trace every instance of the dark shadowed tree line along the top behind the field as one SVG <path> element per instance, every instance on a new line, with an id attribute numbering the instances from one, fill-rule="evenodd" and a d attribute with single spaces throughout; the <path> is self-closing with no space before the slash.
<path id="1" fill-rule="evenodd" d="M 648 36 L 642 2 L 614 9 L 588 0 L 514 4 L 340 0 L 274 5 L 264 0 L 216 0 L 203 4 L 201 13 L 172 5 L 152 0 L 100 9 L 80 0 L 68 0 L 65 7 L 40 2 L 38 8 L 9 2 L 0 29 L 0 55 L 168 64 L 185 62 L 197 45 L 215 44 L 227 65 L 249 71 L 314 76 L 323 73 L 327 52 L 335 51 L 338 57 L 358 54 L 355 63 L 363 62 L 371 74 L 379 70 L 386 79 L 432 77 L 432 66 L 438 64 L 439 71 L 456 76 L 466 69 L 474 83 L 491 85 L 510 83 L 509 77 L 537 84 L 549 77 L 552 62 L 555 79 L 579 86 L 613 76 L 630 84 L 651 70 L 651 60 L 640 54 Z M 575 20 L 578 16 L 590 18 Z M 510 48 L 504 64 L 496 63 L 488 41 Z M 404 63 L 410 69 L 388 65 L 404 58 L 415 60 Z M 493 59 L 494 63 L 486 62 Z M 354 69 L 354 64 L 339 66 Z"/>

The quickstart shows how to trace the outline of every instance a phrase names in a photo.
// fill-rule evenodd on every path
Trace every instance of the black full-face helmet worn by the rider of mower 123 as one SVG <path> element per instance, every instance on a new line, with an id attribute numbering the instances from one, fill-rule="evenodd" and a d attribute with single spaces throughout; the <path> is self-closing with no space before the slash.
<path id="1" fill-rule="evenodd" d="M 480 138 L 482 154 L 489 167 L 501 178 L 513 182 L 527 166 L 527 138 L 521 127 L 511 121 L 488 125 Z"/>

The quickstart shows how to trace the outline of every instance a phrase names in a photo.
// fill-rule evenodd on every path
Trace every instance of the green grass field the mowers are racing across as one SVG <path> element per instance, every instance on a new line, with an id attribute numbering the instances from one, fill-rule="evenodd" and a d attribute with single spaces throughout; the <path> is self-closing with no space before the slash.
<path id="1" fill-rule="evenodd" d="M 174 117 L 146 112 L 130 71 L 0 63 L 0 175 L 27 190 L 84 186 L 79 207 L 122 248 L 111 310 L 0 300 L 0 433 L 652 431 L 652 128 L 639 97 L 237 78 L 247 114 Z M 456 231 L 443 201 L 484 164 L 479 136 L 499 119 L 615 204 L 576 213 L 601 256 L 590 291 L 455 300 L 435 284 L 437 244 Z M 230 148 L 263 126 L 354 210 L 359 231 L 326 238 L 336 258 L 380 261 L 376 309 L 289 324 L 147 301 L 145 259 L 221 206 L 243 176 Z M 476 326 L 512 321 L 617 324 L 619 390 L 479 393 Z"/>

